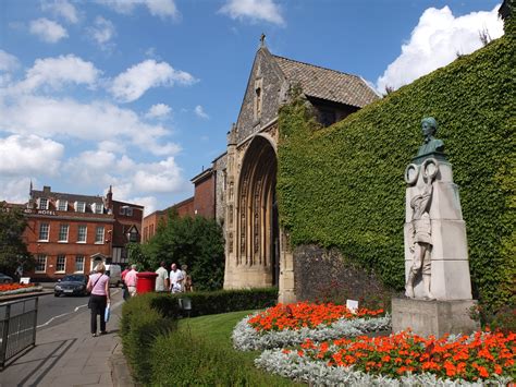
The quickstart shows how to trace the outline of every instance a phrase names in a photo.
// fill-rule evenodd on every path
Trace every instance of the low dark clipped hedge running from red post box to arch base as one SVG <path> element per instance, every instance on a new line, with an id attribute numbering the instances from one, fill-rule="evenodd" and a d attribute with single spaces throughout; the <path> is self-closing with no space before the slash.
<path id="1" fill-rule="evenodd" d="M 152 299 L 152 307 L 167 316 L 177 316 L 179 299 L 192 301 L 191 317 L 263 309 L 275 305 L 278 288 L 218 290 L 161 295 Z"/>

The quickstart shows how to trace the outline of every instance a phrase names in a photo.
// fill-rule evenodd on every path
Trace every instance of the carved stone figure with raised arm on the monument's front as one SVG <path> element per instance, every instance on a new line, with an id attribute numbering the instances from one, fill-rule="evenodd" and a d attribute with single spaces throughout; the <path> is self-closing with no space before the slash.
<path id="1" fill-rule="evenodd" d="M 433 299 L 430 291 L 431 285 L 431 252 L 432 252 L 432 223 L 428 214 L 432 198 L 433 177 L 427 178 L 427 185 L 421 195 L 416 195 L 410 201 L 413 218 L 409 226 L 409 250 L 413 254 L 413 263 L 408 271 L 405 295 L 414 299 L 414 280 L 421 271 L 426 299 Z"/>

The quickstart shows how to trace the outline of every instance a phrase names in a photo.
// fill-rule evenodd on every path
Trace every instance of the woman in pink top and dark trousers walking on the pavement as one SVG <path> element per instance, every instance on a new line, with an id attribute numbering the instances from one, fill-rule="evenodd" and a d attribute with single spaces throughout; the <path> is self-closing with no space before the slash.
<path id="1" fill-rule="evenodd" d="M 87 289 L 91 292 L 89 307 L 91 309 L 91 335 L 97 337 L 97 315 L 100 315 L 100 335 L 106 335 L 106 306 L 110 302 L 109 277 L 105 274 L 106 266 L 100 263 L 95 267 L 96 274 L 89 276 Z"/>

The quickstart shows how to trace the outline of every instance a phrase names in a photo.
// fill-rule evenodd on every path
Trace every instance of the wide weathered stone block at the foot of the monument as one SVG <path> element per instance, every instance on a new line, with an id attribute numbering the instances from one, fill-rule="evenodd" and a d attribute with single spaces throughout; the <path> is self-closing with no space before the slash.
<path id="1" fill-rule="evenodd" d="M 480 324 L 469 316 L 476 300 L 415 300 L 392 299 L 392 331 L 408 328 L 419 336 L 444 334 L 469 335 L 480 329 Z"/>

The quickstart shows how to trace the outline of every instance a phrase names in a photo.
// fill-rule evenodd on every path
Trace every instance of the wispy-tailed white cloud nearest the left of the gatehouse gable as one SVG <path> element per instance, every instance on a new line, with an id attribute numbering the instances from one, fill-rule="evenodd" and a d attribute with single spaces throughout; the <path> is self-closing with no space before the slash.
<path id="1" fill-rule="evenodd" d="M 187 72 L 174 70 L 167 62 L 148 59 L 135 64 L 113 80 L 111 93 L 120 101 L 131 102 L 151 87 L 173 86 L 175 83 L 191 85 L 196 80 Z"/>

